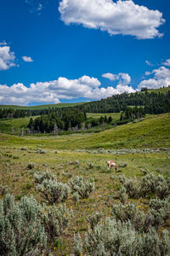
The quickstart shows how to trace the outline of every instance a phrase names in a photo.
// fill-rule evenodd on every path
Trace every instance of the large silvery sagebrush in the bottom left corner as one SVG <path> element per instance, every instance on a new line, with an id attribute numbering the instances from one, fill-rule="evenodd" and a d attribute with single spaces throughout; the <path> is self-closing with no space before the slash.
<path id="1" fill-rule="evenodd" d="M 2 256 L 40 255 L 47 235 L 38 218 L 40 206 L 31 196 L 14 202 L 13 195 L 0 200 L 0 254 Z"/>

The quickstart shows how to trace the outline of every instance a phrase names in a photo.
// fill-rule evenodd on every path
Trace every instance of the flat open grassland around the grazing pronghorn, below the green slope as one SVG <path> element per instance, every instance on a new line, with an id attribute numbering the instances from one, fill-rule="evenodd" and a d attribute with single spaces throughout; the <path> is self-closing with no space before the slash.
<path id="1" fill-rule="evenodd" d="M 6 136 L 8 138 L 8 136 Z M 12 138 L 12 137 L 11 137 Z M 73 138 L 74 140 L 75 138 Z M 170 151 L 161 151 L 155 154 L 90 154 L 87 152 L 77 152 L 74 150 L 58 150 L 59 144 L 56 139 L 47 143 L 46 140 L 39 140 L 41 144 L 29 143 L 34 139 L 8 140 L 2 137 L 0 149 L 0 180 L 2 185 L 8 185 L 16 200 L 20 200 L 23 195 L 33 194 L 37 201 L 43 201 L 40 194 L 35 189 L 34 172 L 49 170 L 60 182 L 69 183 L 70 177 L 94 177 L 95 189 L 88 199 L 81 199 L 76 203 L 72 195 L 65 201 L 66 206 L 73 210 L 74 217 L 71 224 L 62 236 L 56 240 L 56 244 L 49 244 L 52 255 L 70 255 L 73 253 L 73 233 L 80 233 L 84 236 L 88 229 L 86 218 L 88 214 L 102 212 L 104 218 L 111 216 L 112 205 L 119 201 L 118 189 L 121 184 L 112 177 L 113 170 L 108 171 L 106 160 L 116 160 L 117 165 L 127 164 L 124 168 L 119 168 L 116 176 L 124 174 L 126 177 L 141 178 L 143 173 L 140 169 L 147 169 L 148 172 L 162 174 L 169 177 L 170 174 Z M 5 143 L 3 143 L 5 142 Z M 37 143 L 37 142 L 36 142 Z M 62 142 L 60 142 L 60 145 Z M 162 146 L 164 144 L 162 143 Z M 23 148 L 25 147 L 25 148 Z M 45 148 L 44 154 L 39 154 L 37 148 Z M 61 146 L 60 146 L 61 148 Z M 25 150 L 23 150 L 25 149 Z M 78 164 L 71 164 L 77 160 Z M 29 162 L 34 162 L 35 167 L 31 170 L 27 167 Z M 138 202 L 129 200 L 129 202 Z M 149 201 L 140 199 L 140 206 L 145 207 Z M 167 222 L 165 228 L 169 230 L 170 224 Z"/>

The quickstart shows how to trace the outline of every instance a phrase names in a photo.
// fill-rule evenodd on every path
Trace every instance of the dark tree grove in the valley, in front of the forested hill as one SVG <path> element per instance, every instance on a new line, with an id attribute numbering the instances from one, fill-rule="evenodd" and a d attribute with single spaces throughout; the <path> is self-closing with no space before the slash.
<path id="1" fill-rule="evenodd" d="M 101 116 L 99 119 L 87 118 L 86 113 L 80 109 L 58 108 L 57 111 L 51 111 L 47 115 L 42 114 L 36 119 L 31 118 L 27 128 L 29 131 L 58 134 L 58 131 L 88 130 L 94 126 L 111 124 L 111 122 L 111 116 L 109 118 Z"/>

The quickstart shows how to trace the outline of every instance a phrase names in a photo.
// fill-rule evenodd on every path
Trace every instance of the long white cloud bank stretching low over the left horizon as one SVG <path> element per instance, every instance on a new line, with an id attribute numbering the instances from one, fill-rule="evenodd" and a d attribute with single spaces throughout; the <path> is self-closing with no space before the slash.
<path id="1" fill-rule="evenodd" d="M 79 79 L 59 77 L 53 81 L 37 82 L 29 87 L 18 83 L 8 86 L 0 84 L 0 104 L 28 105 L 37 103 L 59 103 L 60 99 L 71 100 L 82 97 L 84 99 L 99 100 L 122 92 L 134 92 L 127 84 L 102 87 L 99 79 L 82 76 Z"/>

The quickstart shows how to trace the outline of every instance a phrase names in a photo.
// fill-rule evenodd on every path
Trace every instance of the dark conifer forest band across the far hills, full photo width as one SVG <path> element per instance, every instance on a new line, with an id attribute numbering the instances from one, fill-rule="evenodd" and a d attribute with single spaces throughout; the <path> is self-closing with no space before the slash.
<path id="1" fill-rule="evenodd" d="M 157 93 L 154 91 L 136 93 L 123 93 L 111 96 L 96 102 L 87 102 L 76 107 L 66 109 L 80 109 L 83 113 L 119 113 L 125 111 L 128 106 L 142 106 L 145 113 L 167 113 L 170 112 L 170 90 L 167 93 Z M 0 109 L 0 119 L 23 118 L 36 115 L 48 115 L 59 113 L 59 109 L 65 108 L 45 108 L 45 109 Z"/>

